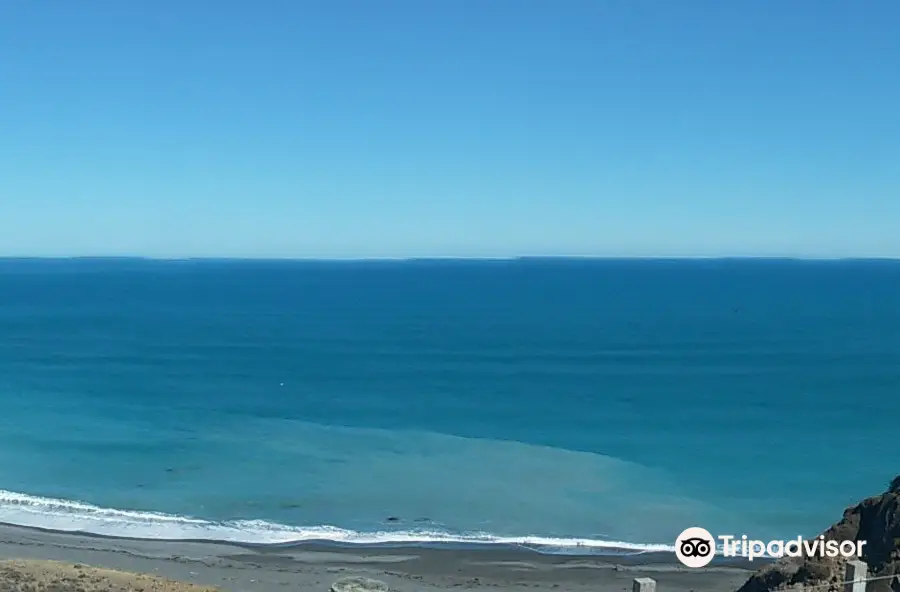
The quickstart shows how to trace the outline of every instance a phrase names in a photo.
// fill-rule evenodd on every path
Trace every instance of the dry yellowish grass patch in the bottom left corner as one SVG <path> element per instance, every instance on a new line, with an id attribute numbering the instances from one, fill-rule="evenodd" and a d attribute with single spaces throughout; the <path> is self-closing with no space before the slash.
<path id="1" fill-rule="evenodd" d="M 144 574 L 56 561 L 0 561 L 0 592 L 216 592 Z"/>

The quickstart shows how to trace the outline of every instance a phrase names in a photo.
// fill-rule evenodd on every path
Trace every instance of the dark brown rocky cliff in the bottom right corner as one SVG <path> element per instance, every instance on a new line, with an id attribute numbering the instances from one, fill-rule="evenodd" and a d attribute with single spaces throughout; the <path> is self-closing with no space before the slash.
<path id="1" fill-rule="evenodd" d="M 862 559 L 871 575 L 900 574 L 900 476 L 885 493 L 847 508 L 844 517 L 822 534 L 826 540 L 866 541 Z M 843 558 L 784 557 L 753 574 L 738 592 L 769 592 L 796 585 L 840 591 L 845 564 Z M 891 592 L 891 581 L 871 582 L 867 592 Z"/>

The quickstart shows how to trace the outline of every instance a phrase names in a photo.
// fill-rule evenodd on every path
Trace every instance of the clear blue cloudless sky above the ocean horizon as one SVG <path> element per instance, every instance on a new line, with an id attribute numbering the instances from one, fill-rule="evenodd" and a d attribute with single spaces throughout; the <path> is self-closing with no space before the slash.
<path id="1" fill-rule="evenodd" d="M 0 3 L 0 254 L 900 257 L 900 2 Z"/>

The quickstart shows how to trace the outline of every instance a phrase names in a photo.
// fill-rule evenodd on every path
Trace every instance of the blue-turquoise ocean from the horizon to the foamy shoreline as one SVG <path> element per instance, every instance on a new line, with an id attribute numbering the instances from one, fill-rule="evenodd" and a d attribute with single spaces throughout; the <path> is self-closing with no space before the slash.
<path id="1" fill-rule="evenodd" d="M 900 473 L 900 262 L 0 260 L 0 522 L 812 536 Z"/>

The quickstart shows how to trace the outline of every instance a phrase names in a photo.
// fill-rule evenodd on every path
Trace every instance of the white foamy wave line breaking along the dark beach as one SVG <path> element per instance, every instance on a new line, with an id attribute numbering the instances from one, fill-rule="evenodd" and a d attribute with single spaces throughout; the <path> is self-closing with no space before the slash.
<path id="1" fill-rule="evenodd" d="M 452 534 L 439 530 L 359 532 L 336 526 L 290 526 L 265 520 L 216 522 L 161 512 L 103 508 L 93 504 L 33 496 L 0 489 L 0 522 L 60 532 L 150 540 L 206 540 L 253 545 L 303 542 L 378 544 L 488 544 L 545 549 L 633 553 L 674 552 L 662 544 L 636 544 L 588 538 L 499 536 L 486 532 Z"/>

